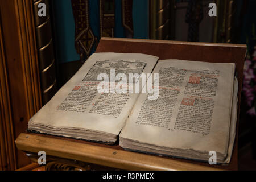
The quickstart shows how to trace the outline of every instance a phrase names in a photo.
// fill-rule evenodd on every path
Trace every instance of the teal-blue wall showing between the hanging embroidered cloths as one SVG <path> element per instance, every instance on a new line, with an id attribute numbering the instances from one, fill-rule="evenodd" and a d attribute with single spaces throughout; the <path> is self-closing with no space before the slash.
<path id="1" fill-rule="evenodd" d="M 90 27 L 93 34 L 100 36 L 99 1 L 89 0 Z M 123 38 L 121 1 L 115 0 L 114 36 Z M 75 21 L 73 18 L 71 0 L 54 0 L 53 14 L 55 16 L 55 34 L 57 44 L 57 59 L 59 63 L 79 60 L 75 49 Z M 148 39 L 148 0 L 133 1 L 134 38 Z M 93 48 L 93 52 L 95 47 Z"/>

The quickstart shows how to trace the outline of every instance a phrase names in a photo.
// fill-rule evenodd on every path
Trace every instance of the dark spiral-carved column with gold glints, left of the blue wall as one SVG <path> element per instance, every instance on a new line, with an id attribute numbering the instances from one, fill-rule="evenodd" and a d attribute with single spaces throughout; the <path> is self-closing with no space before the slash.
<path id="1" fill-rule="evenodd" d="M 38 15 L 39 3 L 44 3 L 46 5 L 46 16 Z M 48 0 L 34 0 L 34 18 L 42 98 L 43 104 L 46 104 L 57 92 L 55 55 L 52 42 L 51 16 Z"/>

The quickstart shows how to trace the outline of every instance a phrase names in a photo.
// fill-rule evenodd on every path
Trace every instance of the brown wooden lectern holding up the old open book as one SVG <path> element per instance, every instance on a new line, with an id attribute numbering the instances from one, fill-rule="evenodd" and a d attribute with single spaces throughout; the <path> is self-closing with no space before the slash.
<path id="1" fill-rule="evenodd" d="M 145 53 L 159 59 L 236 63 L 238 76 L 238 117 L 246 46 L 239 44 L 193 43 L 166 40 L 101 38 L 96 52 Z M 141 154 L 123 150 L 118 144 L 110 146 L 84 140 L 55 137 L 44 134 L 22 133 L 15 143 L 32 160 L 38 161 L 38 152 L 45 151 L 46 169 L 128 169 L 128 170 L 237 170 L 237 138 L 232 159 L 227 165 Z"/>

